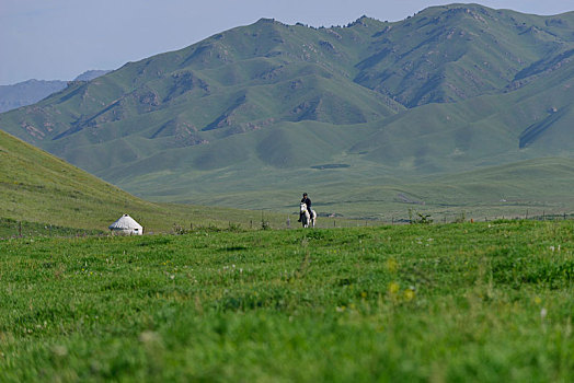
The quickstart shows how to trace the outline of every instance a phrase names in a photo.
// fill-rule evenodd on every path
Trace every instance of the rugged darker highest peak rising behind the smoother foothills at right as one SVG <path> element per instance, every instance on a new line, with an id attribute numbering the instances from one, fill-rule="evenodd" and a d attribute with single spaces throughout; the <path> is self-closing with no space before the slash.
<path id="1" fill-rule="evenodd" d="M 573 22 L 573 13 L 433 7 L 377 33 L 356 81 L 407 107 L 500 92 L 518 72 L 571 49 Z"/>

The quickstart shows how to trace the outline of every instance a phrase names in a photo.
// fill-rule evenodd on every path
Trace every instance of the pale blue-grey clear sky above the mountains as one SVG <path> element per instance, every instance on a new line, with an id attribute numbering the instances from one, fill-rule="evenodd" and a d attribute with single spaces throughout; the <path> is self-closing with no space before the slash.
<path id="1" fill-rule="evenodd" d="M 361 15 L 399 21 L 440 0 L 0 0 L 0 85 L 72 80 L 181 49 L 261 18 L 346 25 Z M 494 9 L 559 14 L 574 0 L 474 0 Z"/>

